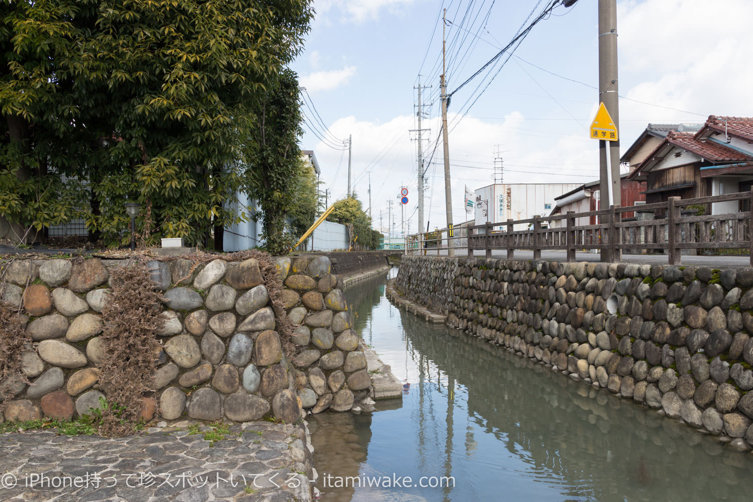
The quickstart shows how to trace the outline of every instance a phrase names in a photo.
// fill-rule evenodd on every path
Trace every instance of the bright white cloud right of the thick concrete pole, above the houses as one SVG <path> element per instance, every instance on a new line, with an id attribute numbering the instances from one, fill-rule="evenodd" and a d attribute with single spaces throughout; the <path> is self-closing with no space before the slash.
<path id="1" fill-rule="evenodd" d="M 648 0 L 624 2 L 617 12 L 623 96 L 701 115 L 751 116 L 753 2 Z M 703 122 L 705 117 L 634 102 L 633 116 Z M 620 116 L 625 116 L 620 111 Z"/>

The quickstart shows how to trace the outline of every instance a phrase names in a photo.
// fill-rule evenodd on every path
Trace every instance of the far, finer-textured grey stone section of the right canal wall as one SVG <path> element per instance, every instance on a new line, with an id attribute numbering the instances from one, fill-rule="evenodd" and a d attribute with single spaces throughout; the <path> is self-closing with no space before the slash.
<path id="1" fill-rule="evenodd" d="M 408 300 L 447 315 L 453 303 L 450 284 L 458 273 L 458 258 L 401 257 L 398 291 Z"/>

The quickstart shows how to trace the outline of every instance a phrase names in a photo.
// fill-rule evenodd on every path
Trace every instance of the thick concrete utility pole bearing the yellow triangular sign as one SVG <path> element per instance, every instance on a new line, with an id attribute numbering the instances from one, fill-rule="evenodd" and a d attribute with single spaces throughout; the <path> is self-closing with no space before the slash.
<path id="1" fill-rule="evenodd" d="M 620 111 L 617 95 L 617 0 L 599 0 L 599 102 L 603 102 L 609 116 L 620 130 Z M 611 145 L 610 145 L 611 143 Z M 620 141 L 599 140 L 599 190 L 601 208 L 620 207 Z M 611 183 L 610 183 L 611 182 Z M 610 186 L 611 184 L 611 186 Z M 602 261 L 618 260 L 602 249 Z"/>

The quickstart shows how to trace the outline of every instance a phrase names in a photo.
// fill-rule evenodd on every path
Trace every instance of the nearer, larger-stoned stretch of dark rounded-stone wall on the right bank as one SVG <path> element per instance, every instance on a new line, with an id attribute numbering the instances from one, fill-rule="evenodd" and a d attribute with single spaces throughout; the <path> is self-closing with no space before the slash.
<path id="1" fill-rule="evenodd" d="M 753 269 L 461 258 L 444 285 L 451 326 L 751 449 Z"/>

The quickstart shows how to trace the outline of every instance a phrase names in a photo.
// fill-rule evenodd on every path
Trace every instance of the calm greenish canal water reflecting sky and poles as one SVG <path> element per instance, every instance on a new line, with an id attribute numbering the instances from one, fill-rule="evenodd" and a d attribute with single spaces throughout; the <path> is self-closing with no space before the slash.
<path id="1" fill-rule="evenodd" d="M 750 500 L 753 454 L 419 320 L 385 284 L 346 297 L 403 399 L 311 417 L 320 500 Z"/>

